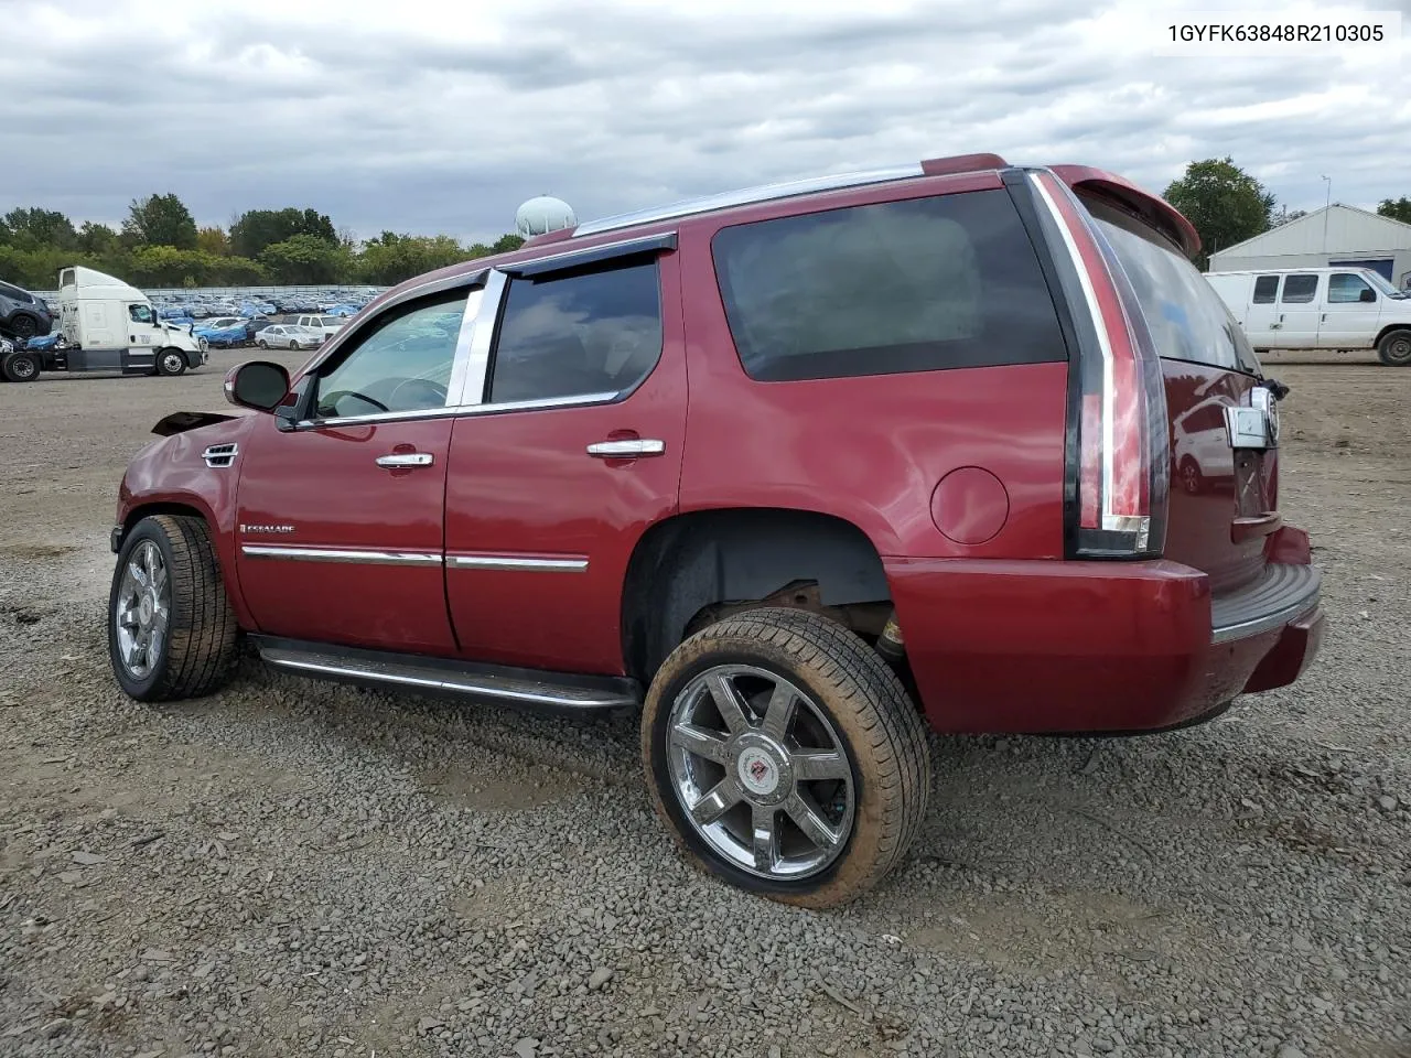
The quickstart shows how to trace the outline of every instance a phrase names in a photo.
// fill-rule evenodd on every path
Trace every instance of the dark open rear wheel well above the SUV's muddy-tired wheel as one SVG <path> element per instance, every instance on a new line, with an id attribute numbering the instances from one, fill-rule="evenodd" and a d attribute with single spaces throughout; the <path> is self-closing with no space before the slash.
<path id="1" fill-rule="evenodd" d="M 851 522 L 813 511 L 698 511 L 653 525 L 622 588 L 622 657 L 649 683 L 703 622 L 792 605 L 876 635 L 890 611 L 882 559 Z"/>

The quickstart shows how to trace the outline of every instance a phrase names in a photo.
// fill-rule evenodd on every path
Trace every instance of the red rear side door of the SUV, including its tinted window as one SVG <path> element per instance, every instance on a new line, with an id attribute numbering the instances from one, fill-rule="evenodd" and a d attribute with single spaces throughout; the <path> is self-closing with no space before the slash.
<path id="1" fill-rule="evenodd" d="M 624 671 L 622 583 L 676 511 L 686 434 L 674 237 L 636 245 L 491 274 L 446 487 L 466 657 Z"/>

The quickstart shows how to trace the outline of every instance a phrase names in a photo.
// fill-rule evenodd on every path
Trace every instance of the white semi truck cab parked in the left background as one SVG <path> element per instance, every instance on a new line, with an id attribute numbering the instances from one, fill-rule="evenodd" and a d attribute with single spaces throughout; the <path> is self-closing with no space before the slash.
<path id="1" fill-rule="evenodd" d="M 0 377 L 28 382 L 41 371 L 179 375 L 207 360 L 205 339 L 157 319 L 147 295 L 111 275 L 73 265 L 59 272 L 59 326 L 4 353 Z"/>

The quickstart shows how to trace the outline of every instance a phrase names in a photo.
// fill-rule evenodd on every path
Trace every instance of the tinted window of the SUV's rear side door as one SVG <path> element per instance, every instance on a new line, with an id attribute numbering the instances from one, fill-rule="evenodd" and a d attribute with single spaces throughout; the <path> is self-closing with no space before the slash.
<path id="1" fill-rule="evenodd" d="M 656 260 L 512 279 L 495 344 L 490 401 L 621 394 L 662 355 Z"/>

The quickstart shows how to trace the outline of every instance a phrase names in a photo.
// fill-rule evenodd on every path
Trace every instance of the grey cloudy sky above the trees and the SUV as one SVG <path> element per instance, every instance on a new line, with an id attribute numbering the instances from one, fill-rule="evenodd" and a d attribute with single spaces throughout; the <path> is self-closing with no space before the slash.
<path id="1" fill-rule="evenodd" d="M 1411 0 L 1362 7 L 1411 35 Z M 542 192 L 587 220 L 972 151 L 1156 190 L 1229 154 L 1295 207 L 1324 174 L 1340 202 L 1411 195 L 1411 37 L 1157 54 L 1208 8 L 1267 4 L 0 0 L 0 212 L 116 223 L 174 190 L 203 224 L 308 205 L 360 236 L 485 237 Z"/>

